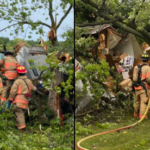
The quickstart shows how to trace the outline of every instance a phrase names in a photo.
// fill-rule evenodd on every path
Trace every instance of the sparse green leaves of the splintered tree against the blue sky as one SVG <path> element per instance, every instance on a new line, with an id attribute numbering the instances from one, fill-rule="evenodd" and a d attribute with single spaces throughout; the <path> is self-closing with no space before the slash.
<path id="1" fill-rule="evenodd" d="M 55 3 L 55 1 L 52 1 L 52 5 L 55 6 Z M 62 7 L 63 10 L 66 11 L 68 9 L 69 3 L 73 3 L 73 0 L 69 0 L 69 2 L 66 0 L 59 0 L 58 4 L 56 4 L 56 7 L 59 8 L 59 11 L 60 7 Z M 54 8 L 54 6 L 52 7 Z M 52 23 L 53 20 L 55 20 L 53 14 L 50 17 L 50 14 L 47 13 L 49 10 L 49 0 L 32 0 L 31 2 L 27 0 L 2 1 L 0 5 L 0 18 L 2 20 L 7 20 L 11 24 L 14 24 L 14 26 L 12 25 L 11 27 L 14 27 L 18 30 L 16 34 L 18 34 L 22 30 L 36 30 L 36 34 L 44 35 L 44 27 L 50 28 L 50 26 L 52 26 L 52 28 L 56 28 L 54 27 L 54 23 Z M 36 16 L 38 16 L 40 11 L 44 11 L 44 13 L 42 12 L 40 15 L 42 15 L 42 18 L 46 18 L 45 20 L 51 18 L 50 22 L 41 22 L 41 20 L 37 20 L 35 17 L 33 18 L 33 15 L 36 15 L 37 13 Z M 55 10 L 55 14 L 59 14 L 57 10 Z M 65 18 L 66 16 L 63 17 Z M 18 23 L 17 25 L 16 22 Z M 28 24 L 30 25 L 30 27 L 25 29 L 25 26 L 23 26 L 24 24 Z M 15 29 L 13 29 L 12 31 L 14 31 Z M 29 36 L 29 38 L 31 37 Z"/>

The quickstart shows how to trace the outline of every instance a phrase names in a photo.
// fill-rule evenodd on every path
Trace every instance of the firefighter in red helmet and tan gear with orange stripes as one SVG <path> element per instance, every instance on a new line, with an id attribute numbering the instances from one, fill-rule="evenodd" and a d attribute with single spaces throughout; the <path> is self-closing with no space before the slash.
<path id="1" fill-rule="evenodd" d="M 18 66 L 16 71 L 18 78 L 10 90 L 8 108 L 11 103 L 14 104 L 12 110 L 16 116 L 16 126 L 20 130 L 25 130 L 25 112 L 28 109 L 31 91 L 36 91 L 36 87 L 32 84 L 31 80 L 26 77 L 25 73 L 27 71 L 24 66 Z"/>

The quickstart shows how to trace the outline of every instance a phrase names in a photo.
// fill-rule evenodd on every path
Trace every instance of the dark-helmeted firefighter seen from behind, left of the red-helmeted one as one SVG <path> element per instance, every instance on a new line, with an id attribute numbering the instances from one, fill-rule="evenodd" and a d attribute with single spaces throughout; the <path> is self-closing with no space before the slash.
<path id="1" fill-rule="evenodd" d="M 0 61 L 0 68 L 3 70 L 3 92 L 1 97 L 1 102 L 3 104 L 9 96 L 8 91 L 10 90 L 14 79 L 17 78 L 16 68 L 19 65 L 11 51 L 7 50 L 5 56 L 6 57 Z"/>

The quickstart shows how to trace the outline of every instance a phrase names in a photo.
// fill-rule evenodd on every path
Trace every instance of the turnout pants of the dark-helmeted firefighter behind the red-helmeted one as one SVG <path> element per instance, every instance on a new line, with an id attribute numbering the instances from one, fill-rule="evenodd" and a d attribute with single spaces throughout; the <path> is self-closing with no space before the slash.
<path id="1" fill-rule="evenodd" d="M 3 85 L 2 97 L 1 97 L 1 104 L 2 107 L 7 103 L 7 98 L 9 96 L 9 90 L 13 84 L 14 80 L 6 80 L 6 85 Z"/>

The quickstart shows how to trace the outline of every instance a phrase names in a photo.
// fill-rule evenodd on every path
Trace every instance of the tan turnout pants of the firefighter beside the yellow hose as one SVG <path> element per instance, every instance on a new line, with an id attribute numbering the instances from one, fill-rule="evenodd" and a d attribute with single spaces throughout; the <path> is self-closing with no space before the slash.
<path id="1" fill-rule="evenodd" d="M 134 104 L 134 113 L 137 114 L 139 118 L 142 118 L 147 108 L 148 97 L 146 96 L 144 89 L 135 91 L 135 94 L 136 100 Z"/>

